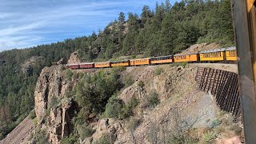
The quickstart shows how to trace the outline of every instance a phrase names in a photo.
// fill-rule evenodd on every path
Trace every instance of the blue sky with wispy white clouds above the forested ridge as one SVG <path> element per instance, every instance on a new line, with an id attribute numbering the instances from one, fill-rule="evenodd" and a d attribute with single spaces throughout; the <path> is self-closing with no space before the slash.
<path id="1" fill-rule="evenodd" d="M 0 0 L 0 51 L 98 33 L 121 11 L 127 18 L 155 2 L 165 0 Z"/>

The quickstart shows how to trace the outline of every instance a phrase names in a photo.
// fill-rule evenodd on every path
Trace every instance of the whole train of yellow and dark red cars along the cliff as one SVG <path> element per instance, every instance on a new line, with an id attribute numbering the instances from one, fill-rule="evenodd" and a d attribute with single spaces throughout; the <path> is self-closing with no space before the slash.
<path id="1" fill-rule="evenodd" d="M 193 54 L 174 54 L 153 58 L 128 59 L 110 62 L 82 62 L 67 64 L 72 70 L 77 69 L 101 69 L 116 66 L 149 66 L 174 62 L 237 62 L 237 51 L 234 46 L 216 50 L 204 50 Z"/>

